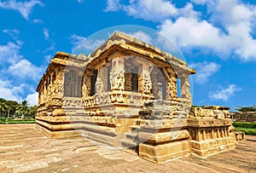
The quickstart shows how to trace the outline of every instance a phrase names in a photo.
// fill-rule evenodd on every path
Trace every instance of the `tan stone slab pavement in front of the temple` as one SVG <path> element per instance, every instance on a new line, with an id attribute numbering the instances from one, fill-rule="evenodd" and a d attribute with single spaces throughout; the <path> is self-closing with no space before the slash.
<path id="1" fill-rule="evenodd" d="M 256 136 L 207 159 L 193 155 L 153 164 L 131 150 L 84 137 L 49 139 L 34 124 L 0 125 L 0 172 L 256 172 Z"/>

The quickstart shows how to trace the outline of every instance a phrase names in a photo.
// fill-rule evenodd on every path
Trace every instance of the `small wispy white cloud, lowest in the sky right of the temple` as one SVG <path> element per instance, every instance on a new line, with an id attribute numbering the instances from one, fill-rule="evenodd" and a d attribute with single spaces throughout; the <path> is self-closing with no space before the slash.
<path id="1" fill-rule="evenodd" d="M 231 95 L 234 95 L 235 92 L 240 90 L 241 89 L 237 87 L 236 84 L 230 84 L 230 86 L 227 89 L 221 89 L 210 92 L 209 97 L 213 100 L 228 101 Z"/>

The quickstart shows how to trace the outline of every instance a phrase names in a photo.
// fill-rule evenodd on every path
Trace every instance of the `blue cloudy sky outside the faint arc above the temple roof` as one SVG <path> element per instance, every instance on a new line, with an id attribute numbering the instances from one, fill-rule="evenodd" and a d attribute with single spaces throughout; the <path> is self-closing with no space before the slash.
<path id="1" fill-rule="evenodd" d="M 73 53 L 90 35 L 119 25 L 146 26 L 182 51 L 195 105 L 256 104 L 254 0 L 0 0 L 0 97 L 37 103 L 39 78 L 56 51 Z M 150 35 L 133 32 L 144 41 Z"/>

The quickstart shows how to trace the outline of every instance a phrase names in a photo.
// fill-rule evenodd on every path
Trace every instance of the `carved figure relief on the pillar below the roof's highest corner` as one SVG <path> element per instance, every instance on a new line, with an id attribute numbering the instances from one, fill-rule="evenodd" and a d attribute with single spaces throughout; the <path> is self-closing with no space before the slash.
<path id="1" fill-rule="evenodd" d="M 115 69 L 110 71 L 110 84 L 111 89 L 124 89 L 125 83 L 125 71 L 121 70 L 120 72 L 116 72 Z"/>

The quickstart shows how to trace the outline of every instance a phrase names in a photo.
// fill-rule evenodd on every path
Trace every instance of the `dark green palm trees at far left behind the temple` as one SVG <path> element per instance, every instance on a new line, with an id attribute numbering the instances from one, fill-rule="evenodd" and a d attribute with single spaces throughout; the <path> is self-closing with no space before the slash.
<path id="1" fill-rule="evenodd" d="M 35 118 L 37 106 L 27 101 L 8 101 L 0 98 L 0 118 Z"/>

